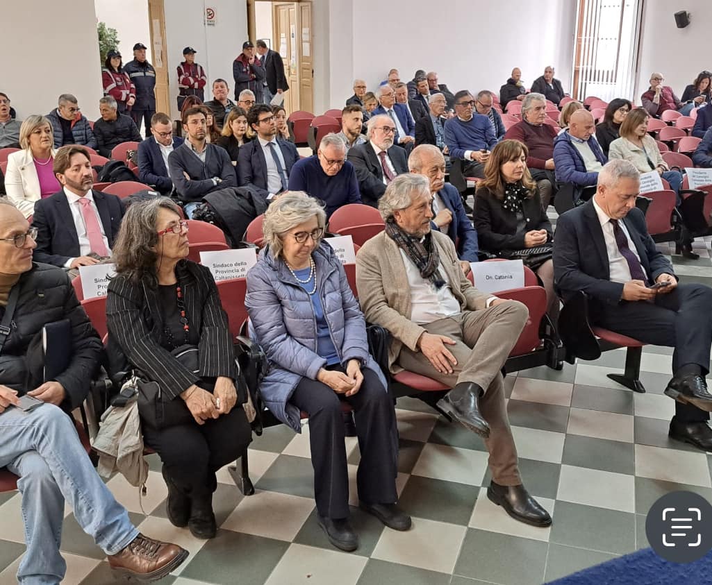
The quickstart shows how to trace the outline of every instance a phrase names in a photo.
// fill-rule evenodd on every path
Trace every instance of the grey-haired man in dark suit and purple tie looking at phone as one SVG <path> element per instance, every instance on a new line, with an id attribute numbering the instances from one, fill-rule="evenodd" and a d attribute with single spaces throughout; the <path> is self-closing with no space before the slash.
<path id="1" fill-rule="evenodd" d="M 595 195 L 559 216 L 554 278 L 566 301 L 590 297 L 592 322 L 644 343 L 674 347 L 673 378 L 665 394 L 676 400 L 669 435 L 712 450 L 707 425 L 712 395 L 705 376 L 712 345 L 712 289 L 678 284 L 635 206 L 639 172 L 623 159 L 598 174 Z"/>

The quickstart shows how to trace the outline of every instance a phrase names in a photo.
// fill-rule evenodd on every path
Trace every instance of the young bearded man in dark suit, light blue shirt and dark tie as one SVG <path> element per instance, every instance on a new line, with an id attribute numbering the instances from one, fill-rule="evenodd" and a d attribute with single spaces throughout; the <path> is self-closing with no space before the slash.
<path id="1" fill-rule="evenodd" d="M 294 144 L 277 138 L 272 108 L 258 104 L 247 112 L 247 122 L 257 139 L 240 147 L 237 173 L 240 186 L 251 186 L 265 199 L 287 190 L 289 173 L 299 154 Z"/>

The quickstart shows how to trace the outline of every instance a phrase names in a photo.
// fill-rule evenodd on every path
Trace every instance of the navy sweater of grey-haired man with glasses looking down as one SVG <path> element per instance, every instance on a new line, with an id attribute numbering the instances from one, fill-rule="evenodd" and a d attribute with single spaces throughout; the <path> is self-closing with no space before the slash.
<path id="1" fill-rule="evenodd" d="M 342 205 L 361 203 L 353 165 L 346 161 L 340 172 L 328 176 L 321 168 L 316 154 L 295 162 L 289 174 L 289 190 L 305 191 L 324 201 L 327 217 Z"/>

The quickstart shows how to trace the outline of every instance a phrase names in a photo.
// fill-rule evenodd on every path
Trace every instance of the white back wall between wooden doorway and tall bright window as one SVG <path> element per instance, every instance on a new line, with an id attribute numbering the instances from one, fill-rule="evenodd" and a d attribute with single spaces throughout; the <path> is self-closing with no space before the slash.
<path id="1" fill-rule="evenodd" d="M 318 31 L 329 36 L 315 46 L 315 110 L 340 107 L 353 93 L 354 78 L 365 79 L 369 90 L 375 90 L 392 67 L 404 82 L 417 69 L 436 70 L 440 83 L 456 92 L 498 91 L 513 67 L 522 70 L 524 83 L 530 85 L 545 65 L 554 65 L 568 90 L 575 4 L 508 0 L 481 7 L 471 0 L 451 0 L 446 6 L 429 0 L 317 0 L 315 45 L 320 44 Z M 328 28 L 320 28 L 322 22 Z M 323 83 L 317 79 L 317 64 L 327 68 Z"/>

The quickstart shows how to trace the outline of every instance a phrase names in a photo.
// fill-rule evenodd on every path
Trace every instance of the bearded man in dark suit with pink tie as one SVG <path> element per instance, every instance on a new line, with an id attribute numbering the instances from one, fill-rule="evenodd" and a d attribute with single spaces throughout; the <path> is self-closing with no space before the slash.
<path id="1" fill-rule="evenodd" d="M 98 264 L 111 255 L 124 206 L 115 195 L 92 191 L 92 170 L 82 147 L 57 151 L 54 173 L 63 189 L 35 204 L 37 262 L 69 269 Z"/>

